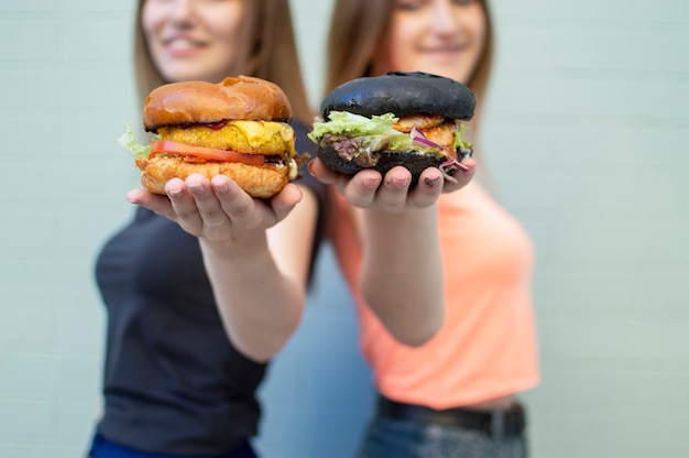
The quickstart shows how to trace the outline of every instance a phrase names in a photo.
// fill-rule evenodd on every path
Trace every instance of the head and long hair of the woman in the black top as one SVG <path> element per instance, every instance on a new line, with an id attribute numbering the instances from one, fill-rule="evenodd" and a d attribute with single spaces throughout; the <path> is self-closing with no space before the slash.
<path id="1" fill-rule="evenodd" d="M 140 100 L 165 83 L 244 74 L 280 86 L 294 117 L 313 116 L 283 0 L 140 0 L 134 58 Z"/>

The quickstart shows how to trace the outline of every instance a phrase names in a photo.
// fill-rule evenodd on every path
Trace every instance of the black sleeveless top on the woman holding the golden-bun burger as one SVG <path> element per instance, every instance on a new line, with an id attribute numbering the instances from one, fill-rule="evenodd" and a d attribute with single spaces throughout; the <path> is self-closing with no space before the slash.
<path id="1" fill-rule="evenodd" d="M 306 127 L 293 128 L 297 151 L 315 156 Z M 319 203 L 315 259 L 326 190 L 308 171 L 302 176 Z M 227 338 L 197 238 L 138 208 L 100 252 L 96 280 L 108 312 L 99 434 L 172 455 L 220 455 L 256 434 L 266 364 Z"/>

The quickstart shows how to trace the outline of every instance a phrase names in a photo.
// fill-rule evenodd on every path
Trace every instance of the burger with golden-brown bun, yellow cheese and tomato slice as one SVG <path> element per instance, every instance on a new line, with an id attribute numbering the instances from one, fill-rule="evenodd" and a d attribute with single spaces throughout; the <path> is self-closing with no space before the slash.
<path id="1" fill-rule="evenodd" d="M 141 184 L 152 193 L 165 194 L 171 178 L 199 173 L 209 179 L 227 175 L 251 196 L 267 198 L 308 160 L 295 151 L 291 118 L 286 95 L 264 79 L 172 83 L 145 100 L 151 144 L 138 144 L 129 127 L 120 143 L 134 153 Z"/>

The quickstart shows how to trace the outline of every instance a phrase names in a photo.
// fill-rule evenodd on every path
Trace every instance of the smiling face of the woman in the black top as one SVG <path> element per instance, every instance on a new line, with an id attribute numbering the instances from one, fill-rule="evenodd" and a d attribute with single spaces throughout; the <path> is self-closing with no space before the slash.
<path id="1" fill-rule="evenodd" d="M 141 23 L 155 67 L 167 81 L 218 83 L 240 42 L 243 0 L 143 0 Z"/>

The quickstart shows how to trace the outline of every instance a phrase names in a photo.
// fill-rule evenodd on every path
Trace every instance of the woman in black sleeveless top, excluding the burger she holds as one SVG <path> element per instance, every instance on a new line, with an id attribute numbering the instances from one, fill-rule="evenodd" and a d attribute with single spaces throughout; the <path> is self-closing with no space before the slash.
<path id="1" fill-rule="evenodd" d="M 142 101 L 169 81 L 271 80 L 297 150 L 311 145 L 287 0 L 141 0 L 135 68 Z M 108 327 L 90 457 L 255 456 L 255 390 L 297 326 L 320 240 L 324 186 L 303 175 L 270 201 L 225 176 L 129 193 L 140 207 L 96 266 Z"/>

